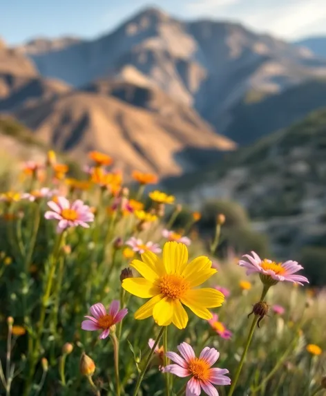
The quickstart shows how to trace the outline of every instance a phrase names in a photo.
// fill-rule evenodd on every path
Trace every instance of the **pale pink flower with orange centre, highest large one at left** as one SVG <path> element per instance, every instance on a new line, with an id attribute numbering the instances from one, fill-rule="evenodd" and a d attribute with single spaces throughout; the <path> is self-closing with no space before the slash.
<path id="1" fill-rule="evenodd" d="M 94 214 L 90 211 L 88 205 L 84 205 L 82 200 L 75 200 L 72 204 L 64 198 L 59 196 L 57 202 L 49 201 L 48 207 L 51 211 L 46 211 L 44 217 L 48 220 L 59 220 L 57 232 L 62 232 L 68 227 L 81 227 L 88 228 L 90 223 L 94 220 Z"/>

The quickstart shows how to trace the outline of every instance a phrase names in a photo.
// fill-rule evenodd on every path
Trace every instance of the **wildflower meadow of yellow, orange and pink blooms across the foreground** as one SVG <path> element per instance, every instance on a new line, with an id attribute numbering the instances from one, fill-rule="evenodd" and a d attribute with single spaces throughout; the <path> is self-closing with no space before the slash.
<path id="1" fill-rule="evenodd" d="M 221 258 L 152 174 L 50 151 L 0 194 L 1 395 L 326 395 L 326 293 L 300 263 Z"/>

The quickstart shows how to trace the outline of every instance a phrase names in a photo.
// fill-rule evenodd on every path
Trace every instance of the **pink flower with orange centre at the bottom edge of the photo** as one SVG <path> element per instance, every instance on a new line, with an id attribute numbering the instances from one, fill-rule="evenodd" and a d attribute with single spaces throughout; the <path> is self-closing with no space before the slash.
<path id="1" fill-rule="evenodd" d="M 178 377 L 189 377 L 186 384 L 186 396 L 199 396 L 201 389 L 209 396 L 218 396 L 218 391 L 214 385 L 230 385 L 231 379 L 225 374 L 229 373 L 226 368 L 211 368 L 218 360 L 220 352 L 208 346 L 202 350 L 200 357 L 195 357 L 193 348 L 186 343 L 180 343 L 178 350 L 182 357 L 175 352 L 166 352 L 166 357 L 175 361 L 176 364 L 169 364 L 164 368 L 164 372 L 178 375 Z"/>

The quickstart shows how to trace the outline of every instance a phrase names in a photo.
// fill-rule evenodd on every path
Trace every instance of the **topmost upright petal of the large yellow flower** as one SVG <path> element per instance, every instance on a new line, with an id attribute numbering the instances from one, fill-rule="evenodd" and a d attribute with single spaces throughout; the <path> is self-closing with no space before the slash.
<path id="1" fill-rule="evenodd" d="M 166 242 L 163 247 L 163 263 L 168 274 L 181 274 L 188 261 L 188 249 L 183 243 Z"/>

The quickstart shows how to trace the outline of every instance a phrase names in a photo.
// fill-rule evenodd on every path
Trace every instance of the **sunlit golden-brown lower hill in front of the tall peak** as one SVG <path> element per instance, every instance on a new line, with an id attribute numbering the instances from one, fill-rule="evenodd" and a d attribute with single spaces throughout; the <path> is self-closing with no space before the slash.
<path id="1" fill-rule="evenodd" d="M 15 116 L 37 138 L 79 162 L 96 149 L 115 158 L 119 168 L 160 176 L 191 171 L 236 148 L 195 111 L 173 102 L 165 111 L 148 111 L 110 95 L 73 91 L 22 106 Z"/>

